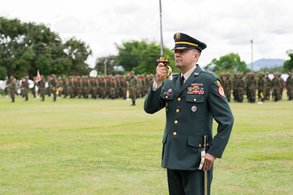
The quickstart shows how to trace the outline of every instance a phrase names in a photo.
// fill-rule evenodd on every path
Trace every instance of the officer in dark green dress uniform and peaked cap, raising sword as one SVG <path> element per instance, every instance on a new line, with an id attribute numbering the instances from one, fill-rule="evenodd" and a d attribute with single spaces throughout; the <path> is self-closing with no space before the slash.
<path id="1" fill-rule="evenodd" d="M 174 35 L 175 63 L 180 73 L 164 80 L 166 68 L 159 63 L 157 78 L 144 101 L 144 110 L 153 114 L 166 108 L 161 166 L 167 169 L 169 194 L 204 194 L 204 172 L 207 170 L 208 194 L 212 182 L 213 162 L 222 158 L 234 118 L 226 100 L 221 80 L 197 63 L 206 44 L 187 34 Z M 213 118 L 219 124 L 212 136 Z M 208 149 L 202 170 L 203 136 Z"/>

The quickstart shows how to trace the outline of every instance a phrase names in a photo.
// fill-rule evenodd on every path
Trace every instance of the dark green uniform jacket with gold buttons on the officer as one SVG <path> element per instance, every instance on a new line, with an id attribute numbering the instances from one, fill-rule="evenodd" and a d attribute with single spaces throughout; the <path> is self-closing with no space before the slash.
<path id="1" fill-rule="evenodd" d="M 149 114 L 166 108 L 166 126 L 163 135 L 163 168 L 195 170 L 201 161 L 204 135 L 208 136 L 208 153 L 222 157 L 232 130 L 234 117 L 226 96 L 219 93 L 220 78 L 215 73 L 202 70 L 199 65 L 180 85 L 180 73 L 173 80 L 164 80 L 160 90 L 149 90 L 144 101 L 144 111 Z M 188 88 L 202 84 L 204 94 L 188 94 Z M 169 93 L 164 95 L 164 93 Z M 172 94 L 171 94 L 172 93 Z M 192 111 L 192 107 L 196 111 Z M 194 110 L 194 108 L 193 108 Z M 213 118 L 217 121 L 217 134 L 213 138 Z M 176 132 L 176 133 L 175 133 Z M 209 171 L 213 170 L 213 166 Z"/>

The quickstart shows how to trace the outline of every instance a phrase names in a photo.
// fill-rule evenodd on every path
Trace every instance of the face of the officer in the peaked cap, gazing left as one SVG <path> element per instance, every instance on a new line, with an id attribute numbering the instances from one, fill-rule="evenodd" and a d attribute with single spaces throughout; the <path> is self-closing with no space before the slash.
<path id="1" fill-rule="evenodd" d="M 196 55 L 192 49 L 175 50 L 175 64 L 176 67 L 189 66 L 193 61 L 197 61 L 200 54 Z"/>

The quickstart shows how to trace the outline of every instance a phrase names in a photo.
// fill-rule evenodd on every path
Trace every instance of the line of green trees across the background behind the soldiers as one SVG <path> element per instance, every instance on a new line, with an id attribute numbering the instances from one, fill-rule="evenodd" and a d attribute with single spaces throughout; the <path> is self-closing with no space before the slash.
<path id="1" fill-rule="evenodd" d="M 136 74 L 156 72 L 160 57 L 160 44 L 141 41 L 127 41 L 121 45 L 115 44 L 118 50 L 116 56 L 97 58 L 94 69 L 98 74 L 104 74 L 106 64 L 107 74 L 125 74 L 134 70 Z M 89 45 L 75 37 L 62 42 L 59 35 L 51 32 L 44 24 L 21 23 L 18 19 L 0 17 L 0 80 L 13 75 L 16 78 L 36 75 L 37 70 L 43 75 L 54 73 L 61 75 L 89 75 L 92 68 L 86 63 L 92 50 Z M 163 47 L 164 57 L 170 61 L 173 72 L 180 70 L 175 66 L 174 52 Z M 262 68 L 260 71 L 286 72 L 293 69 L 293 51 L 287 51 L 290 60 L 283 67 Z M 124 70 L 118 70 L 117 67 Z M 214 58 L 205 69 L 215 73 L 220 72 L 250 72 L 246 63 L 241 61 L 239 54 L 230 53 Z"/>

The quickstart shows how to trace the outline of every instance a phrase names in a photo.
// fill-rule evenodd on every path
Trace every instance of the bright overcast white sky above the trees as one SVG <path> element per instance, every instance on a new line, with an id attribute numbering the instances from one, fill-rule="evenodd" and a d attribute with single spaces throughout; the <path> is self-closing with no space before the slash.
<path id="1" fill-rule="evenodd" d="M 161 0 L 161 5 L 163 44 L 172 49 L 178 32 L 204 42 L 201 67 L 232 52 L 251 63 L 251 39 L 253 61 L 287 60 L 286 51 L 293 49 L 293 1 Z M 93 51 L 87 60 L 92 68 L 96 58 L 118 54 L 115 43 L 160 42 L 159 0 L 10 0 L 1 2 L 0 16 L 43 23 L 64 42 L 81 39 Z"/>

